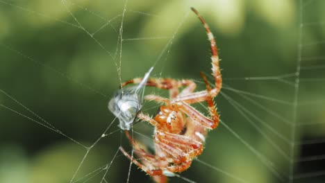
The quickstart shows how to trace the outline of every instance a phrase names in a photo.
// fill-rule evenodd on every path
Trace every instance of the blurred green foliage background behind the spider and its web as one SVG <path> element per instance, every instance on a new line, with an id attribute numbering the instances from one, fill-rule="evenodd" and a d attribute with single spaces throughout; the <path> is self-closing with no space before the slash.
<path id="1" fill-rule="evenodd" d="M 199 71 L 210 73 L 210 51 L 192 6 L 219 46 L 222 125 L 181 176 L 324 182 L 320 0 L 0 0 L 0 182 L 126 182 L 129 161 L 118 148 L 131 146 L 108 101 L 121 80 L 152 66 L 153 77 L 190 78 L 204 88 Z M 158 108 L 144 106 L 151 115 Z M 147 141 L 137 134 L 151 137 L 143 125 L 134 126 L 135 137 Z M 129 182 L 152 182 L 134 165 L 130 173 Z"/>

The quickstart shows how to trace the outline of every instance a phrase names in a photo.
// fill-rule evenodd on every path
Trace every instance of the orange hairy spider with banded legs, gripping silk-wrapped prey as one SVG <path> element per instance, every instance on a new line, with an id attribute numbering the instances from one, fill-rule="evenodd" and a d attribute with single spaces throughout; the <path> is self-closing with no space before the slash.
<path id="1" fill-rule="evenodd" d="M 194 92 L 197 85 L 192 80 L 145 78 L 147 81 L 144 85 L 157 87 L 158 89 L 167 89 L 170 96 L 170 98 L 156 95 L 144 96 L 144 99 L 147 101 L 163 103 L 163 105 L 160 105 L 160 110 L 154 118 L 141 112 L 140 107 L 136 107 L 138 105 L 127 105 L 131 109 L 129 112 L 134 114 L 133 116 L 151 123 L 156 128 L 153 134 L 155 153 L 150 153 L 147 146 L 133 139 L 128 132 L 129 129 L 122 129 L 125 130 L 126 137 L 133 145 L 133 152 L 139 159 L 129 155 L 124 148 L 120 147 L 119 149 L 128 159 L 153 177 L 153 180 L 158 183 L 167 182 L 167 177 L 175 176 L 175 173 L 187 170 L 192 164 L 192 160 L 201 155 L 208 130 L 217 128 L 219 124 L 219 114 L 217 114 L 217 109 L 213 103 L 213 98 L 217 96 L 222 88 L 217 45 L 206 21 L 199 15 L 197 10 L 194 8 L 191 8 L 191 10 L 199 17 L 210 41 L 212 75 L 215 78 L 215 87 L 210 87 L 206 76 L 202 72 L 201 77 L 205 82 L 206 89 L 201 92 Z M 143 81 L 144 78 L 134 78 L 124 82 L 122 87 L 129 84 L 143 83 Z M 182 87 L 183 90 L 179 92 L 179 89 Z M 127 100 L 130 99 L 127 98 Z M 206 101 L 208 104 L 210 117 L 204 116 L 190 105 L 203 101 Z M 127 110 L 128 108 L 124 108 L 123 112 Z M 135 113 L 135 110 L 138 111 Z M 122 108 L 120 111 L 122 111 Z M 133 116 L 131 115 L 131 118 Z M 129 119 L 128 124 L 130 124 Z"/>

